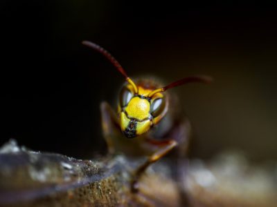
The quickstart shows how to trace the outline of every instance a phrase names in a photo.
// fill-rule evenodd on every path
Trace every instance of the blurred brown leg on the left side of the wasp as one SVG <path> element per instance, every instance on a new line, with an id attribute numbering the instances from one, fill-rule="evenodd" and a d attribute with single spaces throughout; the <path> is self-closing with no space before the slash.
<path id="1" fill-rule="evenodd" d="M 112 110 L 111 106 L 109 106 L 109 103 L 105 101 L 100 103 L 100 111 L 103 136 L 107 142 L 108 152 L 112 155 L 115 152 L 113 137 L 118 134 L 117 117 L 114 110 Z"/>

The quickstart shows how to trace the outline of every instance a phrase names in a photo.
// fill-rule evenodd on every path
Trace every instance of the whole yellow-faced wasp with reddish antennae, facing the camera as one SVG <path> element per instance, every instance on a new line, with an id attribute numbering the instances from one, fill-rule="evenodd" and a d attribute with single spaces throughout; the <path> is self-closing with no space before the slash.
<path id="1" fill-rule="evenodd" d="M 191 125 L 182 116 L 177 97 L 169 94 L 168 89 L 191 82 L 210 83 L 212 78 L 196 75 L 166 86 L 153 79 L 131 79 L 107 50 L 90 41 L 82 41 L 82 44 L 100 52 L 125 77 L 116 112 L 109 103 L 100 103 L 102 132 L 109 153 L 119 151 L 125 155 L 148 156 L 136 169 L 131 182 L 132 192 L 138 192 L 139 178 L 148 166 L 173 148 L 177 148 L 179 157 L 186 156 L 188 150 Z"/>

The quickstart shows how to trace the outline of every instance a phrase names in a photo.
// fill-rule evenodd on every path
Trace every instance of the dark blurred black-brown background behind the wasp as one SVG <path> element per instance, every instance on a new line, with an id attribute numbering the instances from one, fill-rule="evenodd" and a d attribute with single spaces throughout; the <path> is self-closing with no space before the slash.
<path id="1" fill-rule="evenodd" d="M 100 101 L 123 77 L 84 39 L 107 48 L 130 77 L 210 86 L 174 89 L 195 126 L 196 157 L 240 149 L 277 158 L 276 8 L 253 3 L 1 0 L 1 140 L 83 158 L 104 152 Z"/>

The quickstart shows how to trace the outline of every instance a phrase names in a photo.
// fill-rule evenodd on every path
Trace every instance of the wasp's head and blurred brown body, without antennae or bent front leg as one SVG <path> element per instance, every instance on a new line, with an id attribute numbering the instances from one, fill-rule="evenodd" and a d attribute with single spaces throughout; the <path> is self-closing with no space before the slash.
<path id="1" fill-rule="evenodd" d="M 173 141 L 179 147 L 187 148 L 190 123 L 180 116 L 177 97 L 158 92 L 150 99 L 147 95 L 162 85 L 152 79 L 134 79 L 134 82 L 137 94 L 131 84 L 124 84 L 119 93 L 117 112 L 109 103 L 101 103 L 103 132 L 106 139 L 112 139 L 108 141 L 111 152 L 150 156 Z"/>

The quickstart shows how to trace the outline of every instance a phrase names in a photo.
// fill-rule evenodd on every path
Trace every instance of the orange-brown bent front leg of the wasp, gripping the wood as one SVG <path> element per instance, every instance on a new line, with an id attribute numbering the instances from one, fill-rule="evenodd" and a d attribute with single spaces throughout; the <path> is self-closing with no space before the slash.
<path id="1" fill-rule="evenodd" d="M 161 159 L 161 157 L 168 154 L 168 152 L 170 152 L 173 148 L 175 148 L 175 146 L 177 146 L 177 141 L 175 141 L 175 140 L 168 141 L 166 146 L 163 146 L 163 148 L 160 148 L 159 150 L 157 150 L 157 152 L 154 152 L 153 155 L 148 157 L 148 159 L 145 161 L 144 164 L 142 164 L 141 166 L 139 166 L 138 169 L 136 169 L 134 178 L 131 182 L 132 193 L 137 193 L 139 191 L 138 181 L 139 181 L 141 175 L 143 175 L 143 172 L 145 172 L 146 168 L 148 168 L 148 166 L 150 166 L 154 162 Z"/>

